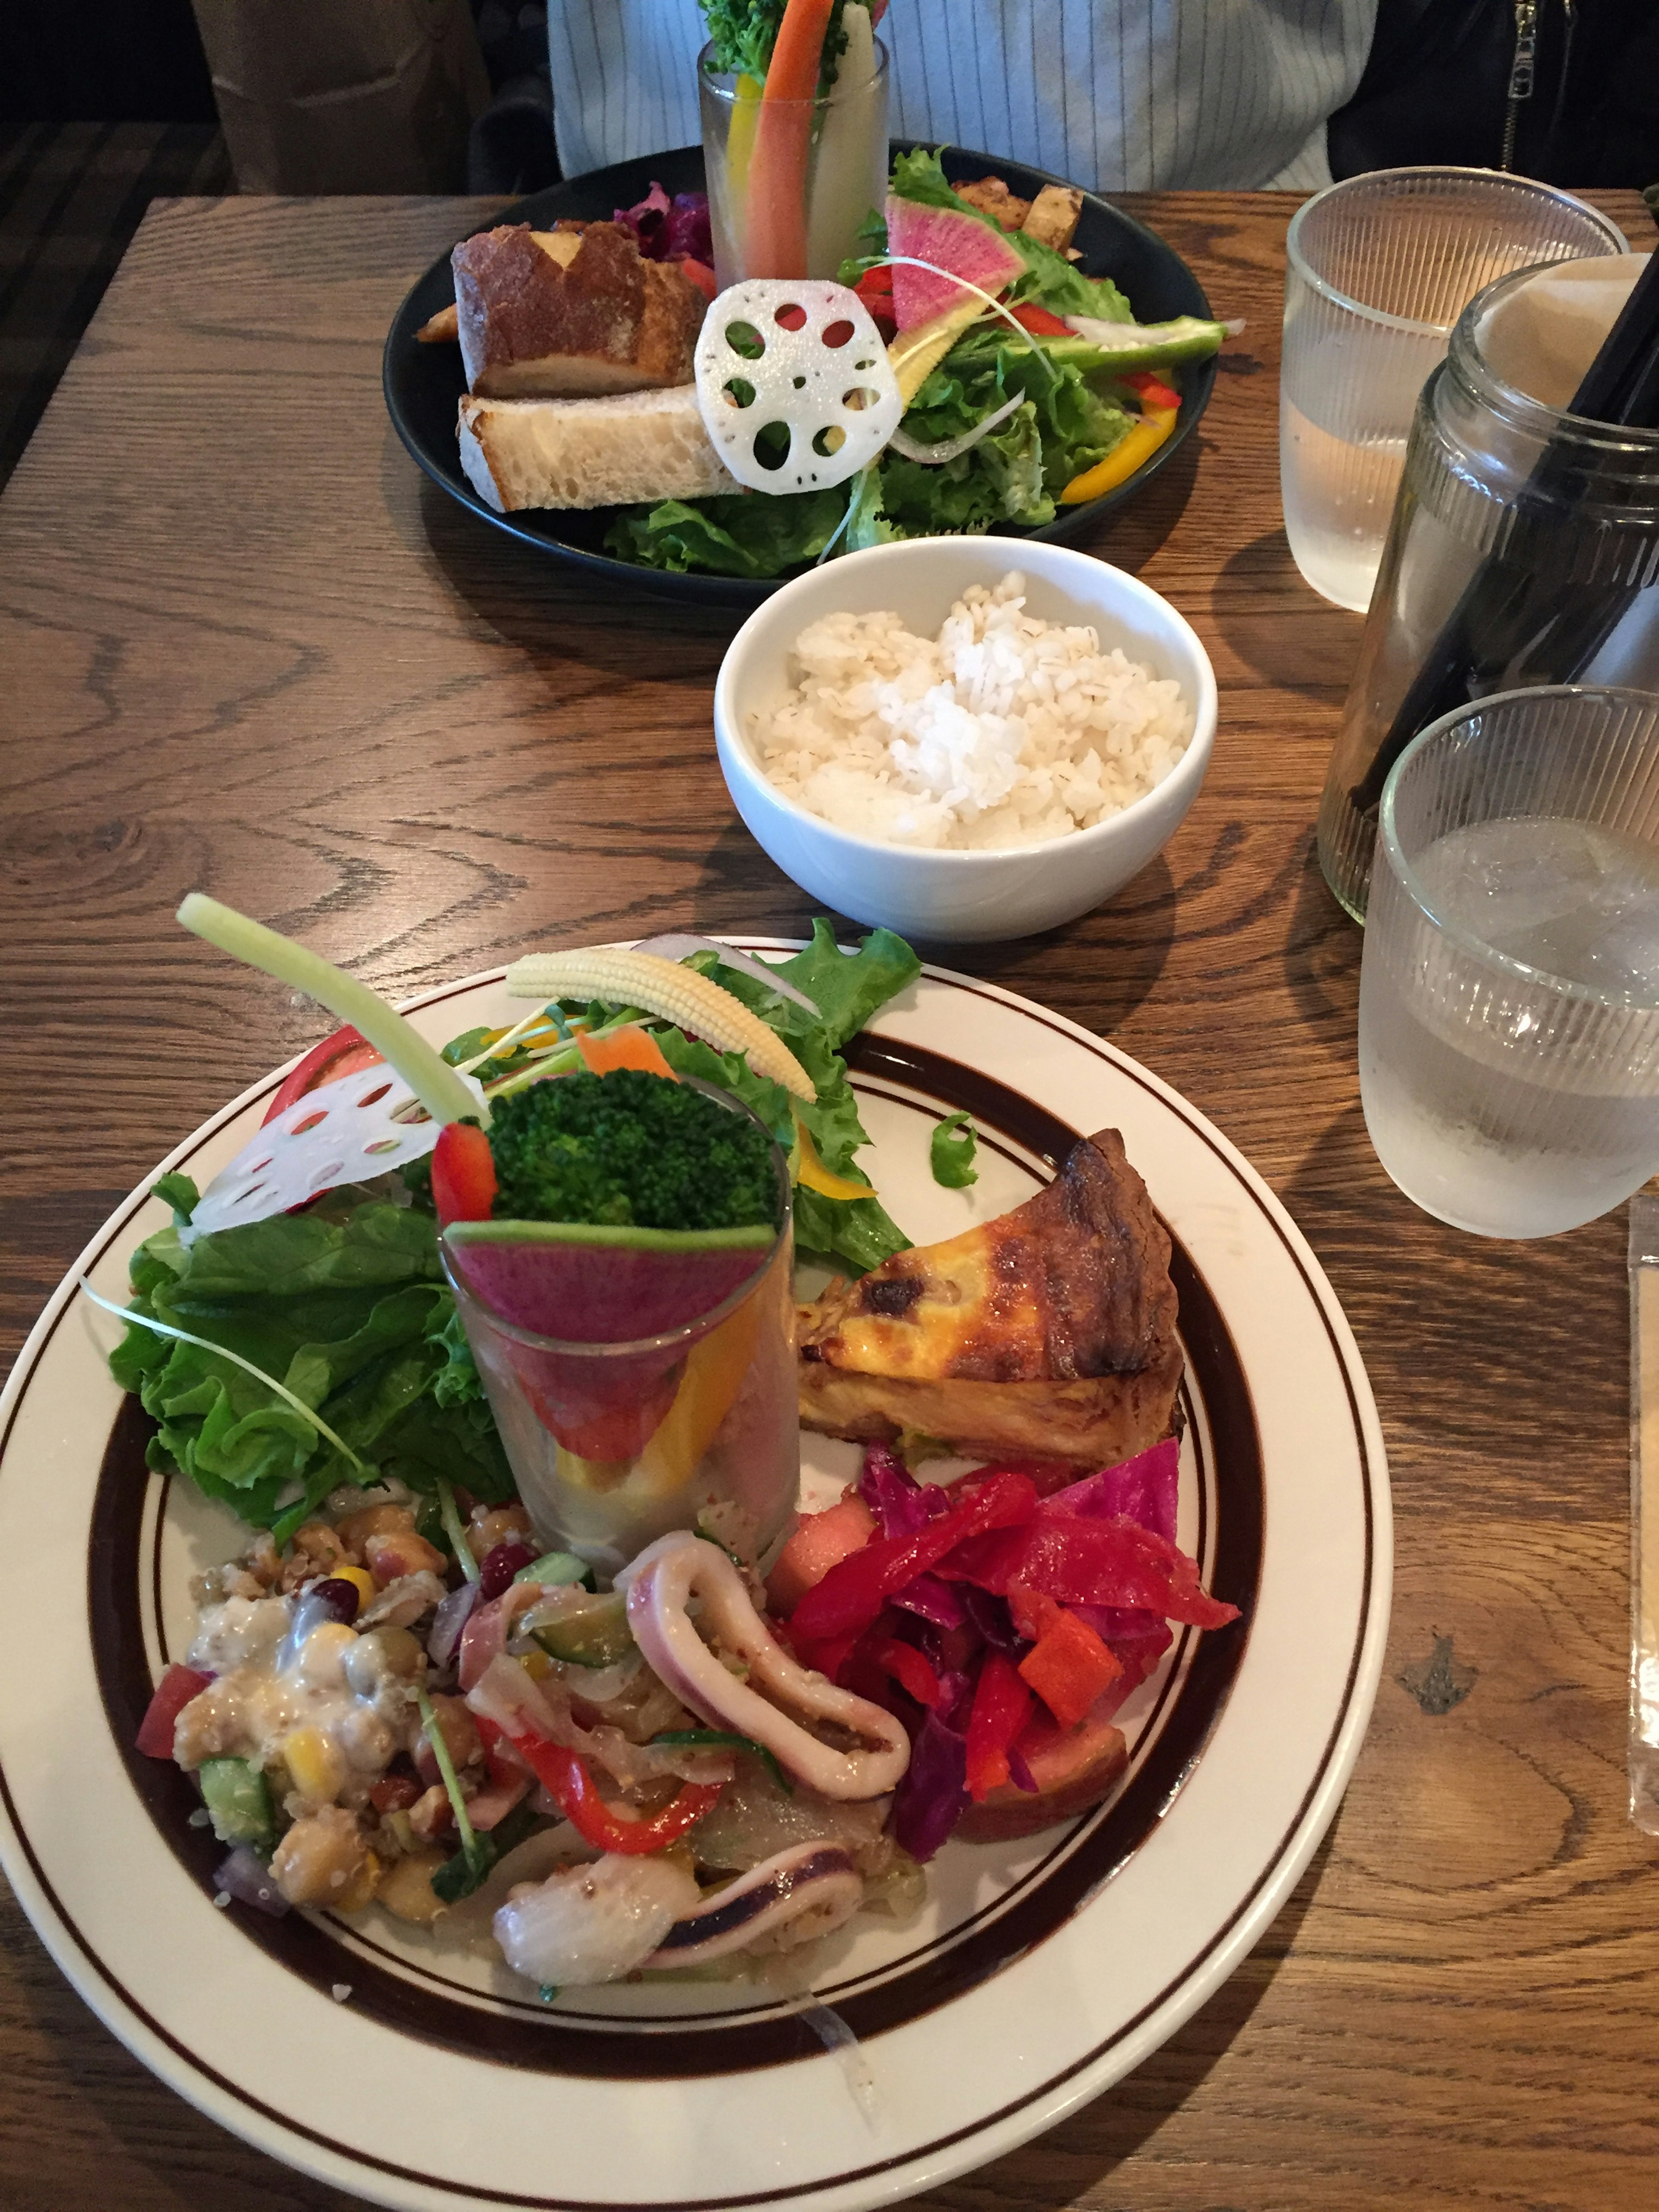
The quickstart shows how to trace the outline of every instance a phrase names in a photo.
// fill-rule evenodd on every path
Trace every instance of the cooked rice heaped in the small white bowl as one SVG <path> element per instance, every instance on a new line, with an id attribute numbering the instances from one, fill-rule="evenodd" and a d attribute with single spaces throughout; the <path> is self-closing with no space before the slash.
<path id="1" fill-rule="evenodd" d="M 1192 739 L 1181 686 L 1024 613 L 1011 571 L 973 584 L 938 641 L 898 615 L 825 615 L 801 681 L 752 739 L 776 787 L 889 845 L 1035 845 L 1141 799 Z"/>

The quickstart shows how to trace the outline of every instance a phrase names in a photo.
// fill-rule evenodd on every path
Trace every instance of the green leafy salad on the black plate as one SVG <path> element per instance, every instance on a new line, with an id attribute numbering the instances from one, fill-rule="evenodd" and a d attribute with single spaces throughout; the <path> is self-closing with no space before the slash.
<path id="1" fill-rule="evenodd" d="M 748 11 L 734 7 L 732 13 Z M 918 148 L 898 155 L 891 192 L 920 206 L 969 215 L 1006 237 L 1026 263 L 1009 290 L 1015 307 L 1135 327 L 1133 307 L 1110 279 L 1084 276 L 1064 254 L 1022 230 L 1002 232 L 995 217 L 951 188 L 938 153 Z M 858 257 L 841 265 L 841 281 L 847 285 L 856 285 L 887 257 L 887 223 L 878 210 L 865 219 L 858 243 Z M 1219 343 L 1214 325 L 1190 323 L 1190 330 L 1214 332 L 1206 352 Z M 1194 345 L 1188 334 L 1186 354 Z M 1157 345 L 1152 354 L 1164 358 Z M 971 451 L 929 465 L 889 447 L 849 487 L 832 491 L 728 493 L 628 507 L 613 522 L 606 546 L 648 568 L 774 577 L 821 560 L 832 540 L 845 551 L 858 551 L 894 538 L 980 533 L 1002 524 L 1037 529 L 1053 522 L 1057 493 L 1128 436 L 1137 414 L 1126 405 L 1128 394 L 1117 378 L 1130 365 L 1146 363 L 1146 347 L 1133 358 L 1115 358 L 1110 347 L 1071 332 L 1020 336 L 987 312 L 927 376 L 900 425 L 920 445 L 940 445 L 971 431 L 1018 394 L 1013 414 Z M 849 502 L 854 511 L 847 518 Z"/>

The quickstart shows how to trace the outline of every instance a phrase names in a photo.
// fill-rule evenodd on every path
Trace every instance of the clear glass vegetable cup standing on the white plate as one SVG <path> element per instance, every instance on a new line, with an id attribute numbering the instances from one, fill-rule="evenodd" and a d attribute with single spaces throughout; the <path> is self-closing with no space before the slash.
<path id="1" fill-rule="evenodd" d="M 697 1088 L 748 1113 L 714 1086 Z M 699 1520 L 754 1557 L 783 1533 L 801 1482 L 801 1425 L 790 1175 L 776 1146 L 772 1166 L 776 1234 L 726 1250 L 703 1239 L 684 1263 L 633 1230 L 606 1232 L 599 1245 L 560 1243 L 555 1230 L 544 1245 L 504 1245 L 487 1237 L 493 1223 L 471 1239 L 465 1228 L 440 1237 L 467 1343 L 544 1544 L 615 1573 L 653 1537 Z M 524 1267 L 529 1290 L 513 1272 Z M 544 1327 L 526 1327 L 529 1318 Z M 639 1318 L 650 1334 L 619 1334 Z"/>

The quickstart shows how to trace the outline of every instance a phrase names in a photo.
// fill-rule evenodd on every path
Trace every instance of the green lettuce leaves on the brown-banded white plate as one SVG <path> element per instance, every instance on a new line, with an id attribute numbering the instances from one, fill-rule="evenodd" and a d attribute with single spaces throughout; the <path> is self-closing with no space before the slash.
<path id="1" fill-rule="evenodd" d="M 688 964 L 779 1031 L 818 1097 L 810 1106 L 794 1102 L 781 1084 L 754 1075 L 741 1055 L 717 1053 L 653 1022 L 670 1066 L 732 1091 L 785 1150 L 794 1146 L 799 1113 L 821 1164 L 832 1175 L 867 1181 L 854 1164 L 867 1139 L 838 1048 L 916 980 L 920 962 L 909 945 L 876 929 L 856 953 L 843 953 L 830 922 L 814 922 L 812 942 L 781 962 L 779 973 L 814 1002 L 816 1018 L 712 951 L 692 953 Z M 637 1009 L 553 1013 L 584 1013 L 602 1026 Z M 473 1031 L 445 1057 L 453 1066 L 482 1048 L 484 1037 Z M 511 1048 L 507 1064 L 518 1062 L 520 1051 Z M 491 1066 L 480 1073 L 489 1075 Z M 197 1206 L 197 1186 L 188 1175 L 157 1181 L 155 1197 L 173 1206 L 173 1221 L 146 1237 L 128 1263 L 133 1318 L 111 1352 L 115 1380 L 135 1391 L 157 1422 L 150 1467 L 190 1475 L 208 1498 L 272 1528 L 279 1542 L 330 1491 L 349 1482 L 396 1478 L 431 1500 L 429 1524 L 425 1517 L 422 1524 L 434 1540 L 440 1540 L 442 1482 L 465 1484 L 489 1504 L 513 1498 L 507 1455 L 442 1279 L 429 1168 L 422 1159 L 403 1172 L 403 1203 L 394 1203 L 385 1186 L 343 1186 L 305 1212 L 270 1214 L 190 1243 L 179 1230 Z M 803 1250 L 854 1274 L 909 1241 L 874 1190 L 867 1199 L 830 1199 L 799 1186 L 794 1221 Z M 144 1327 L 146 1318 L 188 1329 L 206 1345 L 161 1336 Z M 361 1467 L 319 1436 L 265 1378 L 279 1378 L 301 1407 L 312 1407 Z"/>

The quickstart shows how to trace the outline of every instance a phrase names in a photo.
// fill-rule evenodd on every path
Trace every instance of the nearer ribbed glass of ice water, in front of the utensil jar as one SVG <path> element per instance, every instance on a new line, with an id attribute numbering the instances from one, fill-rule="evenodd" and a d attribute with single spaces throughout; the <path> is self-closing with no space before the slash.
<path id="1" fill-rule="evenodd" d="M 1593 1221 L 1659 1170 L 1659 699 L 1559 686 L 1396 761 L 1360 969 L 1383 1166 L 1482 1237 Z"/>

